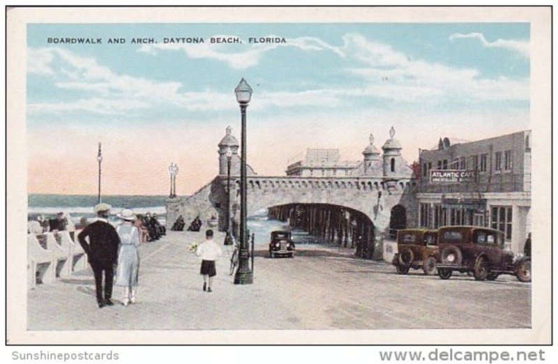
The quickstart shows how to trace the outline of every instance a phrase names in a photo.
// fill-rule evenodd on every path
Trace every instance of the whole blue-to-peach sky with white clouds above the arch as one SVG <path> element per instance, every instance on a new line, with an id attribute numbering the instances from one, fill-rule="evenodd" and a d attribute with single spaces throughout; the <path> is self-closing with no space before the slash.
<path id="1" fill-rule="evenodd" d="M 362 160 L 392 126 L 409 163 L 439 137 L 530 128 L 528 23 L 29 24 L 28 192 L 96 195 L 101 142 L 103 194 L 168 194 L 171 162 L 176 192 L 192 194 L 218 174 L 225 128 L 240 140 L 242 77 L 262 176 L 308 148 Z"/>

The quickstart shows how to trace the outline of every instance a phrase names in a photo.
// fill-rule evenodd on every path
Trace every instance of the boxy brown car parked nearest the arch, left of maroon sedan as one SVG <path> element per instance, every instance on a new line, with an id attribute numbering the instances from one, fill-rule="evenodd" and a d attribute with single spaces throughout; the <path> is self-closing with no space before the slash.
<path id="1" fill-rule="evenodd" d="M 429 229 L 402 229 L 397 232 L 397 250 L 391 264 L 397 273 L 407 274 L 409 268 L 422 268 L 425 275 L 436 273 L 438 259 L 437 231 Z"/>

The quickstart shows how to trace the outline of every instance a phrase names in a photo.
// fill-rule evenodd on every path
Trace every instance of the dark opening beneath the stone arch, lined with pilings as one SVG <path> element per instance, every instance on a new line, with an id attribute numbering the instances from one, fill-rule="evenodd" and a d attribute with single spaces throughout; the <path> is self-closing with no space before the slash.
<path id="1" fill-rule="evenodd" d="M 268 216 L 315 236 L 317 242 L 352 248 L 358 257 L 372 259 L 375 226 L 365 213 L 335 204 L 292 203 L 271 206 Z"/>

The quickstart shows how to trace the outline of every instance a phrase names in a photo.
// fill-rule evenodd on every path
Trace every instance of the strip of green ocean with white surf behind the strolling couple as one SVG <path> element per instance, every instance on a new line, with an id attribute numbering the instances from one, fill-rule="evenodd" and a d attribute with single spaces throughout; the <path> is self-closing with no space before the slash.
<path id="1" fill-rule="evenodd" d="M 102 196 L 102 202 L 112 205 L 111 213 L 116 215 L 123 208 L 132 208 L 135 213 L 157 213 L 159 221 L 164 223 L 166 196 Z M 29 219 L 38 215 L 54 218 L 56 213 L 72 216 L 75 222 L 82 216 L 93 218 L 93 206 L 97 204 L 97 195 L 39 195 L 31 194 L 27 200 Z M 161 221 L 163 220 L 163 221 Z"/>

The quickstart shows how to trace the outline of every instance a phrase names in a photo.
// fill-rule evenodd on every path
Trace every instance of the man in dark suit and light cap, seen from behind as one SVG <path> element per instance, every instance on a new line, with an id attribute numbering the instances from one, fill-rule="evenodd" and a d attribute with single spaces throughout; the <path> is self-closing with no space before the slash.
<path id="1" fill-rule="evenodd" d="M 87 225 L 77 236 L 87 260 L 93 268 L 95 275 L 95 289 L 99 308 L 105 305 L 112 306 L 112 280 L 114 279 L 114 266 L 118 259 L 118 246 L 120 238 L 116 229 L 108 222 L 109 204 L 98 204 L 93 208 L 98 220 Z M 85 240 L 89 236 L 89 244 Z M 103 271 L 105 272 L 105 296 L 103 298 Z"/>

